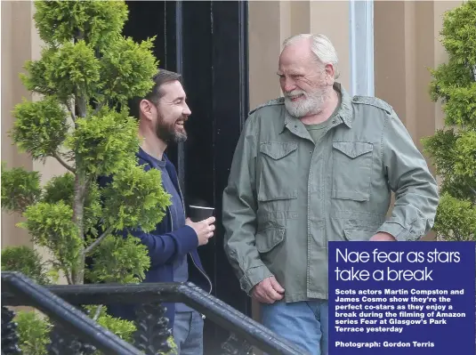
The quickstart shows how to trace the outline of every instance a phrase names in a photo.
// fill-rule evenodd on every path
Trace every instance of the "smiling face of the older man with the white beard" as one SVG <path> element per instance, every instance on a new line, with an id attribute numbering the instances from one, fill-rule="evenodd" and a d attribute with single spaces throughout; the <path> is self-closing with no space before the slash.
<path id="1" fill-rule="evenodd" d="M 332 66 L 323 66 L 311 52 L 309 40 L 290 44 L 279 56 L 278 77 L 285 105 L 294 117 L 318 114 L 324 106 Z"/>

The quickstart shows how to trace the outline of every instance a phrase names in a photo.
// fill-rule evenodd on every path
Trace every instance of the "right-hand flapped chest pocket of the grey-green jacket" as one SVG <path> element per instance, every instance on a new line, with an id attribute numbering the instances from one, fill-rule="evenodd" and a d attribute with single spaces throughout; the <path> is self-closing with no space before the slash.
<path id="1" fill-rule="evenodd" d="M 334 141 L 332 148 L 332 198 L 368 201 L 374 145 L 367 141 Z"/>

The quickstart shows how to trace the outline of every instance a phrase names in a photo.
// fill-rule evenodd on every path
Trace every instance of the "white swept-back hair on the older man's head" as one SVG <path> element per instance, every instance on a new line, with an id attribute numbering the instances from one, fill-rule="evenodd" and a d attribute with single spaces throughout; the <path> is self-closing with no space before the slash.
<path id="1" fill-rule="evenodd" d="M 316 55 L 316 59 L 324 65 L 332 64 L 334 67 L 334 78 L 338 78 L 340 75 L 339 58 L 337 57 L 337 52 L 335 51 L 335 47 L 330 39 L 327 36 L 320 34 L 311 35 L 306 33 L 295 35 L 287 38 L 283 42 L 283 49 L 301 39 L 309 39 L 311 41 L 311 52 Z"/>

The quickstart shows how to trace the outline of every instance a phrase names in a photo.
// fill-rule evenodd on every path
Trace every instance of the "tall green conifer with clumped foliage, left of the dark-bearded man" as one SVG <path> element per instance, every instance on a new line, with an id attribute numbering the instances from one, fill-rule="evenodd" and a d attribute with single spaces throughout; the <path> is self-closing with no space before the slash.
<path id="1" fill-rule="evenodd" d="M 39 99 L 13 109 L 11 137 L 34 160 L 55 158 L 65 173 L 42 182 L 36 171 L 2 165 L 2 208 L 22 214 L 19 227 L 52 255 L 43 260 L 31 248 L 11 246 L 2 253 L 2 270 L 20 270 L 40 284 L 62 278 L 81 285 L 85 274 L 93 282 L 140 282 L 149 268 L 146 246 L 116 233 L 152 230 L 170 204 L 160 172 L 136 165 L 138 126 L 127 109 L 129 99 L 153 85 L 154 38 L 137 44 L 121 35 L 128 14 L 123 1 L 37 1 L 35 8 L 44 48 L 20 78 Z M 100 189 L 101 175 L 113 175 L 114 182 Z M 96 262 L 85 268 L 89 256 Z M 88 310 L 132 339 L 132 322 L 111 318 L 101 306 Z M 44 353 L 48 320 L 36 313 L 15 320 L 24 352 Z"/>

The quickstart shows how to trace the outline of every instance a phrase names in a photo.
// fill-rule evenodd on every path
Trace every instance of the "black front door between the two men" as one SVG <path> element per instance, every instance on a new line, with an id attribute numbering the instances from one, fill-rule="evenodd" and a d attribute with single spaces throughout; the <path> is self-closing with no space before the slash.
<path id="1" fill-rule="evenodd" d="M 214 296 L 251 316 L 251 304 L 223 252 L 222 192 L 248 111 L 247 3 L 241 1 L 127 2 L 125 36 L 157 36 L 159 67 L 180 72 L 192 111 L 189 140 L 170 147 L 187 200 L 216 211 L 216 235 L 199 248 Z M 206 353 L 228 333 L 206 321 Z"/>

